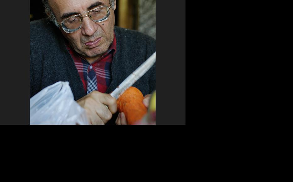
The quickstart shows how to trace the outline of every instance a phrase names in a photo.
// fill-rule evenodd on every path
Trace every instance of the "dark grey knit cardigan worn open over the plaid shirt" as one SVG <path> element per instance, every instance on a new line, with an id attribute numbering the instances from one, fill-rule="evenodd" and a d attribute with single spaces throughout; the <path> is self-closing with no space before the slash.
<path id="1" fill-rule="evenodd" d="M 112 61 L 112 92 L 128 75 L 156 51 L 156 42 L 140 32 L 115 27 L 117 51 Z M 46 19 L 30 22 L 30 97 L 58 81 L 68 81 L 78 100 L 86 95 L 75 64 L 66 50 L 64 36 Z M 133 86 L 143 95 L 156 88 L 155 65 Z"/>

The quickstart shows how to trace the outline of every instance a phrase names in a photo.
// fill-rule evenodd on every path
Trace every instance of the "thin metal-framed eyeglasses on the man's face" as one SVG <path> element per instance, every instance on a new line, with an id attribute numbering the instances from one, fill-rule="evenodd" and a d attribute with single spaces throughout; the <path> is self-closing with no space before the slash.
<path id="1" fill-rule="evenodd" d="M 64 32 L 66 33 L 73 33 L 76 32 L 81 28 L 83 17 L 88 16 L 92 21 L 96 23 L 100 23 L 103 21 L 106 21 L 110 16 L 110 7 L 108 6 L 100 6 L 97 8 L 94 8 L 90 11 L 84 12 L 87 13 L 87 15 L 81 16 L 80 13 L 74 16 L 71 16 L 67 19 L 64 19 L 61 23 L 58 22 L 58 26 L 61 26 Z"/>

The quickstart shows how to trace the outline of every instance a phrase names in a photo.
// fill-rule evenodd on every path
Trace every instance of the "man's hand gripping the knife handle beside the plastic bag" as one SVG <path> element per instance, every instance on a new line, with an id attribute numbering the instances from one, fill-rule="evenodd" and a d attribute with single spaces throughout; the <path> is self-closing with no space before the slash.
<path id="1" fill-rule="evenodd" d="M 76 101 L 86 110 L 89 123 L 104 125 L 117 112 L 117 102 L 110 94 L 93 91 Z M 108 107 L 107 107 L 108 106 Z"/>

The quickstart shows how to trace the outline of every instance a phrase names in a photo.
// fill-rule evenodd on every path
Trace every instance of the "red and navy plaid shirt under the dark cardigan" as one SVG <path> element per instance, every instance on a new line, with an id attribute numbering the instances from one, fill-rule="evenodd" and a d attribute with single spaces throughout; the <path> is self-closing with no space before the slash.
<path id="1" fill-rule="evenodd" d="M 109 87 L 112 76 L 111 76 L 111 64 L 113 56 L 116 53 L 116 36 L 112 44 L 109 46 L 107 52 L 105 52 L 99 59 L 93 63 L 87 62 L 84 58 L 80 57 L 66 42 L 66 48 L 72 57 L 75 67 L 80 75 L 85 93 L 89 94 L 93 90 L 105 93 Z"/>

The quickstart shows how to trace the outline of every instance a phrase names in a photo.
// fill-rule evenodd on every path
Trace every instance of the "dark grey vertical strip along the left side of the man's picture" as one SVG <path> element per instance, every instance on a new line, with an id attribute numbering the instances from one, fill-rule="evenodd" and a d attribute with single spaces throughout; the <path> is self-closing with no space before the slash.
<path id="1" fill-rule="evenodd" d="M 30 4 L 1 2 L 1 124 L 28 125 L 30 100 Z M 14 12 L 11 13 L 11 9 Z M 22 16 L 19 16 L 22 14 Z M 4 18 L 4 17 L 3 17 Z"/>

